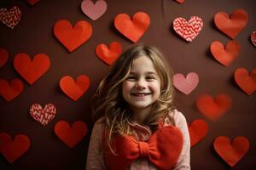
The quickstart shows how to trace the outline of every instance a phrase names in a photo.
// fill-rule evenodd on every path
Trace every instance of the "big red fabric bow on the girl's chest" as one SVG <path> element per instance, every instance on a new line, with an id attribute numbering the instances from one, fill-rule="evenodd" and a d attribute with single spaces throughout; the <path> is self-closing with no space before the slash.
<path id="1" fill-rule="evenodd" d="M 105 162 L 110 170 L 122 170 L 131 166 L 138 157 L 146 157 L 160 170 L 170 170 L 177 163 L 183 148 L 183 134 L 177 127 L 158 129 L 146 142 L 132 136 L 116 136 L 113 139 L 114 155 L 105 147 Z"/>

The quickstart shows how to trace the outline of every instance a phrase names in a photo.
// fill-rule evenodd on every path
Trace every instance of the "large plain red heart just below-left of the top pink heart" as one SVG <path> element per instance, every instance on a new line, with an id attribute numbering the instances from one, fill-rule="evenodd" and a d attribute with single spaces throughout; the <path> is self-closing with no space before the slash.
<path id="1" fill-rule="evenodd" d="M 91 37 L 92 26 L 85 20 L 78 21 L 74 27 L 68 20 L 59 20 L 55 23 L 54 34 L 69 52 L 73 52 Z"/>

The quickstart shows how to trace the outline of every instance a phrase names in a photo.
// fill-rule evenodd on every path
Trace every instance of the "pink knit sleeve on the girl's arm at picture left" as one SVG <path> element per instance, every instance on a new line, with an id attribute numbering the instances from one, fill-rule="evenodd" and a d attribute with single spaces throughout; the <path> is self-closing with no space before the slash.
<path id="1" fill-rule="evenodd" d="M 90 144 L 87 154 L 86 170 L 103 170 L 105 168 L 102 152 L 102 133 L 104 125 L 97 121 L 94 124 L 90 136 Z"/>

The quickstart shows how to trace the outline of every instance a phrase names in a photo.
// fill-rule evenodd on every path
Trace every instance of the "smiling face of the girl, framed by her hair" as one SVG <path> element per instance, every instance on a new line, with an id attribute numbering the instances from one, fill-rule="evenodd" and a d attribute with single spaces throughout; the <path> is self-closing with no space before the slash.
<path id="1" fill-rule="evenodd" d="M 122 84 L 122 93 L 132 111 L 147 109 L 160 96 L 160 77 L 147 56 L 133 60 L 131 72 Z"/>

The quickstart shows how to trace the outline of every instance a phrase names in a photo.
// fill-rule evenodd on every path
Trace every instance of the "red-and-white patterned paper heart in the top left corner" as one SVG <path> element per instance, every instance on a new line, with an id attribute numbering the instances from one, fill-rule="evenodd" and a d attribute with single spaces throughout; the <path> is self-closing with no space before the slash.
<path id="1" fill-rule="evenodd" d="M 14 29 L 18 25 L 21 18 L 20 8 L 13 6 L 12 8 L 0 8 L 0 20 L 5 26 Z"/>

